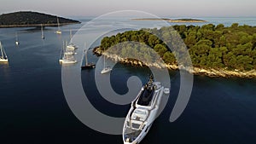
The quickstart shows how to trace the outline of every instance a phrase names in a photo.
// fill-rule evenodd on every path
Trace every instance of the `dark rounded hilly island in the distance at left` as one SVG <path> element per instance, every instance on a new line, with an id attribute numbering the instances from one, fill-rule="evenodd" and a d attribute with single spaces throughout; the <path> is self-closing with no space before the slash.
<path id="1" fill-rule="evenodd" d="M 58 17 L 60 25 L 79 24 L 78 20 L 70 20 Z M 57 26 L 57 16 L 32 11 L 20 11 L 0 15 L 0 28 L 7 27 L 33 27 L 33 26 Z"/>

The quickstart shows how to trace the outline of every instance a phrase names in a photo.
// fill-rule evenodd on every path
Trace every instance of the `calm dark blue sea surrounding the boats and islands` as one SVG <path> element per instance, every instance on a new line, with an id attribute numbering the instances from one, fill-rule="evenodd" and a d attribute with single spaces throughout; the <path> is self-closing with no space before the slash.
<path id="1" fill-rule="evenodd" d="M 253 18 L 206 19 L 216 24 L 230 25 L 236 21 L 256 26 Z M 126 25 L 125 21 L 117 24 Z M 88 140 L 122 143 L 121 135 L 102 134 L 82 124 L 67 106 L 62 92 L 58 62 L 62 41 L 69 40 L 69 29 L 77 31 L 82 25 L 62 26 L 61 37 L 54 33 L 56 27 L 46 27 L 44 40 L 40 30 L 0 29 L 0 40 L 9 55 L 9 64 L 0 64 L 1 143 L 88 143 Z M 147 26 L 158 24 L 149 21 Z M 15 32 L 20 40 L 18 47 Z M 96 62 L 91 51 L 89 57 Z M 105 101 L 96 91 L 94 71 L 82 72 L 84 90 L 91 103 L 101 112 L 125 117 L 130 105 L 116 106 Z M 113 89 L 125 94 L 127 78 L 136 75 L 144 83 L 147 74 L 145 68 L 117 65 L 111 74 Z M 170 123 L 168 119 L 179 89 L 179 72 L 170 72 L 170 77 L 169 101 L 142 144 L 256 142 L 256 79 L 195 76 L 188 107 L 177 121 Z"/>

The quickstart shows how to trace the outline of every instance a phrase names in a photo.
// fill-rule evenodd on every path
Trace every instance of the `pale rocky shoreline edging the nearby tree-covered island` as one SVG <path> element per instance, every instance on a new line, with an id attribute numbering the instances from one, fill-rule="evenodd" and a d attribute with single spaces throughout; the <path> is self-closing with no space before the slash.
<path id="1" fill-rule="evenodd" d="M 102 50 L 95 48 L 93 49 L 93 53 L 97 56 L 105 55 L 108 59 L 113 61 L 119 61 L 120 63 L 131 65 L 131 66 L 153 66 L 156 68 L 168 68 L 169 70 L 184 70 L 190 73 L 193 73 L 195 75 L 204 75 L 208 77 L 222 77 L 222 78 L 256 78 L 256 70 L 252 71 L 230 71 L 225 68 L 201 68 L 201 67 L 184 67 L 184 66 L 177 66 L 177 65 L 171 65 L 171 64 L 161 64 L 161 63 L 143 63 L 140 60 L 135 59 L 129 59 L 129 58 L 122 58 L 119 55 L 110 55 L 103 53 Z"/>

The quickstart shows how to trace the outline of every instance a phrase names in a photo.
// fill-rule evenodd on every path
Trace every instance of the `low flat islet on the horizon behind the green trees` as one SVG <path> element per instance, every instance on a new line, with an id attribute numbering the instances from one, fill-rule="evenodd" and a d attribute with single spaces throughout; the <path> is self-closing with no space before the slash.
<path id="1" fill-rule="evenodd" d="M 166 20 L 168 22 L 207 22 L 206 20 L 196 20 L 196 19 L 177 19 L 177 20 L 172 20 L 172 19 L 166 19 L 166 18 L 143 18 L 143 19 L 131 19 L 131 20 Z"/>

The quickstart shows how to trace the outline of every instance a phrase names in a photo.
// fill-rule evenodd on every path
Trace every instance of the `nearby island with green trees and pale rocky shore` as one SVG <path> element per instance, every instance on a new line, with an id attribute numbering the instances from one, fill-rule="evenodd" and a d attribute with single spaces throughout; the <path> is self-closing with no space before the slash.
<path id="1" fill-rule="evenodd" d="M 176 30 L 180 40 L 168 35 Z M 158 33 L 162 37 L 156 37 L 152 33 Z M 183 41 L 193 64 L 189 72 L 197 75 L 207 75 L 211 77 L 239 77 L 239 78 L 256 78 L 256 27 L 239 26 L 234 23 L 232 26 L 219 24 L 214 26 L 207 24 L 204 26 L 170 26 L 161 27 L 160 29 L 142 29 L 139 31 L 128 31 L 118 33 L 115 36 L 103 37 L 101 45 L 94 49 L 96 55 L 106 55 L 108 58 L 118 60 L 119 62 L 129 63 L 131 65 L 144 66 L 140 60 L 132 60 L 125 55 L 137 55 L 143 60 L 154 59 L 146 50 L 134 50 L 136 45 L 124 42 L 145 43 L 154 49 L 164 60 L 166 67 L 177 70 L 176 56 L 168 49 L 166 43 L 172 43 L 168 40 Z M 166 43 L 160 39 L 166 39 Z M 118 43 L 124 43 L 122 47 L 117 47 L 113 55 L 107 50 Z M 148 66 L 148 65 L 147 65 Z M 157 64 L 151 66 L 163 67 Z M 185 67 L 186 69 L 186 67 Z"/>

